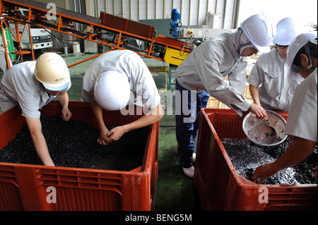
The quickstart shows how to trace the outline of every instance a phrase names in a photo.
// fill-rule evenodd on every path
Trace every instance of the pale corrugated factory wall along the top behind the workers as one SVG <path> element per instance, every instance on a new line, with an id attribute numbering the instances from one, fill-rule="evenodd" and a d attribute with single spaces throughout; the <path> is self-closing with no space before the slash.
<path id="1" fill-rule="evenodd" d="M 52 0 L 36 0 L 50 3 Z M 66 8 L 89 16 L 100 11 L 130 20 L 171 18 L 173 8 L 181 13 L 182 25 L 206 25 L 208 12 L 219 13 L 219 28 L 232 29 L 254 13 L 266 13 L 273 23 L 284 17 L 297 18 L 302 25 L 317 25 L 317 0 L 56 0 Z"/>

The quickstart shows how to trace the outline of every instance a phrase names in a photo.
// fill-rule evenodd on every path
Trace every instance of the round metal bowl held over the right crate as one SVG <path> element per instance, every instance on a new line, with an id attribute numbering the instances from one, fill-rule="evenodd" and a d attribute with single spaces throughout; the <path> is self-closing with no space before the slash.
<path id="1" fill-rule="evenodd" d="M 278 145 L 287 138 L 286 121 L 274 111 L 266 110 L 268 118 L 257 118 L 249 113 L 243 119 L 243 130 L 247 138 L 257 145 Z"/>

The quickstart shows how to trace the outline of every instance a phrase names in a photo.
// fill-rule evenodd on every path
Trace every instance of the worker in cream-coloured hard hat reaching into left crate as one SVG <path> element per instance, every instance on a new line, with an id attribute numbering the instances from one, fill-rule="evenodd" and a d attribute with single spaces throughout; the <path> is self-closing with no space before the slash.
<path id="1" fill-rule="evenodd" d="M 37 155 L 46 166 L 54 166 L 41 130 L 40 111 L 54 97 L 59 97 L 61 116 L 71 118 L 69 95 L 71 87 L 69 68 L 61 56 L 47 52 L 37 61 L 18 63 L 4 73 L 0 82 L 0 108 L 7 111 L 19 105 L 28 124 Z"/>

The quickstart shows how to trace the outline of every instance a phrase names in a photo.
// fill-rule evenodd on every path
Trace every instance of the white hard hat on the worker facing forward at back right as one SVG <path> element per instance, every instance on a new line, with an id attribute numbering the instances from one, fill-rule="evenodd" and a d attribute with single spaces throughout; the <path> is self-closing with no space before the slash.
<path id="1" fill-rule="evenodd" d="M 276 30 L 273 42 L 278 45 L 288 46 L 297 35 L 300 35 L 296 21 L 290 17 L 280 20 L 276 25 Z"/>

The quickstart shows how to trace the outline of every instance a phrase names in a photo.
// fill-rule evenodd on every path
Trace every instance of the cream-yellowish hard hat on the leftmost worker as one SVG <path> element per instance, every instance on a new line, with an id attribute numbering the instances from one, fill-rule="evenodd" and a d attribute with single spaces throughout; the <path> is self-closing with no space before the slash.
<path id="1" fill-rule="evenodd" d="M 35 63 L 35 78 L 47 90 L 65 90 L 70 82 L 69 68 L 59 54 L 46 52 L 37 58 Z"/>

